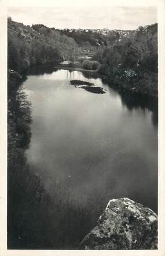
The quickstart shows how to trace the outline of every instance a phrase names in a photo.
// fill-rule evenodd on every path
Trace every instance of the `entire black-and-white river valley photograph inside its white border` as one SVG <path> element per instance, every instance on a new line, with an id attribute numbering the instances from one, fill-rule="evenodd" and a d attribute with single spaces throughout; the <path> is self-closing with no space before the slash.
<path id="1" fill-rule="evenodd" d="M 157 5 L 56 2 L 7 11 L 7 249 L 157 251 Z"/>

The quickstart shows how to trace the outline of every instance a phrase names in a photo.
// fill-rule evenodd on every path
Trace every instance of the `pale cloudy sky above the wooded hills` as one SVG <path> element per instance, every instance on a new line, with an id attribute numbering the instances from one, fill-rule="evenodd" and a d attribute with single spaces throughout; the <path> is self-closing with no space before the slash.
<path id="1" fill-rule="evenodd" d="M 156 6 L 56 6 L 8 8 L 12 20 L 55 28 L 135 30 L 157 23 Z"/>

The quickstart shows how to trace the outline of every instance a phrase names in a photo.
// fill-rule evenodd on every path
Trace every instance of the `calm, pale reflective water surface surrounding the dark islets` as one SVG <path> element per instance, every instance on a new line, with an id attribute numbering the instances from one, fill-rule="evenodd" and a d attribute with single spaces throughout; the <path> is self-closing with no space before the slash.
<path id="1" fill-rule="evenodd" d="M 107 90 L 94 94 L 69 85 L 71 79 Z M 96 209 L 128 197 L 157 209 L 157 124 L 155 112 L 123 97 L 101 79 L 58 70 L 29 75 L 32 138 L 27 158 L 52 196 Z"/>

